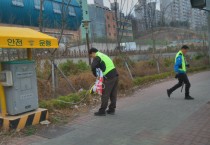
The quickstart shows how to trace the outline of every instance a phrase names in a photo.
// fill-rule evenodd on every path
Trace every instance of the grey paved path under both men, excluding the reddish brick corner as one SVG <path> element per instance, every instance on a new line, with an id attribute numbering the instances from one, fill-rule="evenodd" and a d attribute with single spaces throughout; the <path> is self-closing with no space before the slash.
<path id="1" fill-rule="evenodd" d="M 193 101 L 184 100 L 184 93 L 181 93 L 180 89 L 174 92 L 169 99 L 166 95 L 166 89 L 173 86 L 177 80 L 161 82 L 138 90 L 130 97 L 119 99 L 116 115 L 95 117 L 91 111 L 87 116 L 78 118 L 73 123 L 66 125 L 66 128 L 72 128 L 72 131 L 33 145 L 167 144 L 167 138 L 173 135 L 177 128 L 186 127 L 192 118 L 205 117 L 205 115 L 200 115 L 199 118 L 196 118 L 195 113 L 202 112 L 200 109 L 208 105 L 207 103 L 210 101 L 210 71 L 194 74 L 189 78 L 192 84 L 191 95 L 195 97 Z M 183 125 L 184 122 L 185 125 Z M 198 124 L 192 124 L 195 125 L 195 129 L 198 128 Z M 206 125 L 209 124 L 210 122 Z M 186 134 L 183 133 L 183 135 Z M 187 145 L 187 142 L 189 145 L 192 144 L 190 142 L 195 137 L 191 135 L 190 137 L 182 139 L 183 145 Z M 206 143 L 202 145 L 209 145 L 210 136 L 205 139 Z M 176 143 L 168 144 L 175 145 Z"/>

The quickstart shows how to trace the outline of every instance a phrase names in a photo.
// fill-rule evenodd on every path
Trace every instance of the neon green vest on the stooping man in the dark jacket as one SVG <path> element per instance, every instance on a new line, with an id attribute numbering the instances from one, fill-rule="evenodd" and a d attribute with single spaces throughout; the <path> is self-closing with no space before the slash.
<path id="1" fill-rule="evenodd" d="M 105 54 L 97 52 L 96 56 L 100 57 L 101 61 L 105 63 L 106 70 L 103 72 L 103 75 L 107 75 L 111 70 L 115 68 L 113 61 Z"/>

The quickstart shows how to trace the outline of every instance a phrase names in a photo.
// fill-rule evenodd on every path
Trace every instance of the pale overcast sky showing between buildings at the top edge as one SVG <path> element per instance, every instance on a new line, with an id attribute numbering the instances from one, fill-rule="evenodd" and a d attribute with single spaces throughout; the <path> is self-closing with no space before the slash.
<path id="1" fill-rule="evenodd" d="M 110 8 L 110 2 L 114 2 L 114 0 L 103 0 L 104 1 L 104 5 Z M 138 0 L 117 0 L 119 3 L 122 1 L 124 4 L 124 8 L 123 11 L 124 13 L 129 13 L 130 9 L 134 7 L 134 5 L 138 2 Z M 157 4 L 157 9 L 160 9 L 160 4 L 159 4 L 159 0 L 158 4 Z M 94 3 L 94 0 L 88 0 L 89 4 Z M 127 7 L 128 5 L 128 7 Z"/>

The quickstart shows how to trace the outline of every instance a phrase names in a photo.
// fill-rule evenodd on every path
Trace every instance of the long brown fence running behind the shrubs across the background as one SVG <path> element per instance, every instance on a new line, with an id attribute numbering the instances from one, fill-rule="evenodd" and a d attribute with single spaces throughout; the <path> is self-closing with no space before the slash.
<path id="1" fill-rule="evenodd" d="M 173 53 L 177 52 L 179 49 L 173 49 L 173 50 L 168 50 L 168 49 L 161 49 L 161 50 L 156 50 L 155 53 Z M 190 51 L 193 52 L 205 52 L 208 51 L 207 48 L 201 48 L 198 47 L 196 49 L 191 49 Z M 152 54 L 152 51 L 149 50 L 130 50 L 130 51 L 121 51 L 119 52 L 118 50 L 103 50 L 102 51 L 105 54 L 108 54 L 109 56 L 117 56 L 119 54 L 126 54 L 126 55 L 148 55 Z M 47 58 L 52 58 L 52 50 L 33 50 L 33 58 L 34 59 L 47 59 Z M 59 58 L 85 58 L 88 57 L 87 51 L 56 51 L 53 55 L 54 58 L 59 59 Z M 10 60 L 16 60 L 16 59 L 25 59 L 27 58 L 26 51 L 24 49 L 22 50 L 16 50 L 16 49 L 2 49 L 0 50 L 0 61 L 10 61 Z"/>

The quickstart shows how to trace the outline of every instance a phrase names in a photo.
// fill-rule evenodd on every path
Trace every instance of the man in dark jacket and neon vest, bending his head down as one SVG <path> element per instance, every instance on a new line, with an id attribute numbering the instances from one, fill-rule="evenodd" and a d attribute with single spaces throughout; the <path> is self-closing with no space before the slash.
<path id="1" fill-rule="evenodd" d="M 96 76 L 96 69 L 100 68 L 104 76 L 104 89 L 101 96 L 101 107 L 95 116 L 114 115 L 117 101 L 118 73 L 113 61 L 96 48 L 91 48 L 89 55 L 93 58 L 91 69 Z M 106 111 L 110 99 L 109 109 Z"/>

